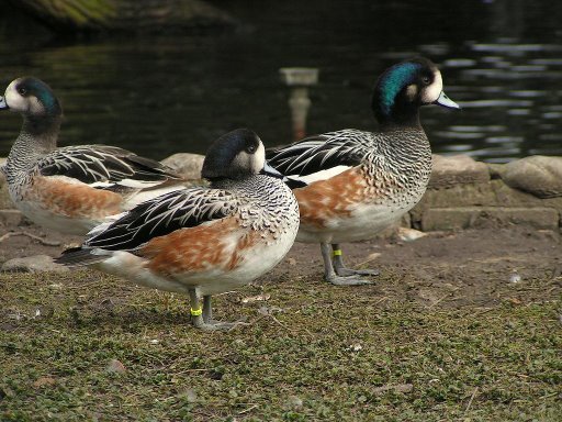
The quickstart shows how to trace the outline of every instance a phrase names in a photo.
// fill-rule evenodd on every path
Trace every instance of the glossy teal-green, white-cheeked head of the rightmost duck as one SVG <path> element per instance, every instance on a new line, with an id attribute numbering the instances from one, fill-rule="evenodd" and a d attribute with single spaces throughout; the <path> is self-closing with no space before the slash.
<path id="1" fill-rule="evenodd" d="M 428 104 L 460 109 L 445 95 L 441 73 L 427 58 L 398 63 L 376 80 L 372 109 L 383 127 L 420 126 L 419 108 Z"/>

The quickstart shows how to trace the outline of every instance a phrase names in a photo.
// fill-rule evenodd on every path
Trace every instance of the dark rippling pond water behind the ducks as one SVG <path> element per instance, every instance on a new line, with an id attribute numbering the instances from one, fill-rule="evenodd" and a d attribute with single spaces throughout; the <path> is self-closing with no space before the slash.
<path id="1" fill-rule="evenodd" d="M 376 76 L 424 55 L 440 65 L 461 112 L 427 107 L 437 153 L 505 162 L 562 155 L 562 2 L 217 1 L 243 23 L 188 36 L 55 40 L 0 7 L 0 86 L 47 81 L 66 121 L 60 143 L 109 143 L 165 157 L 204 153 L 237 126 L 267 145 L 291 141 L 279 68 L 321 70 L 308 132 L 374 130 Z M 0 88 L 3 90 L 3 88 Z M 0 155 L 20 127 L 0 114 Z"/>

